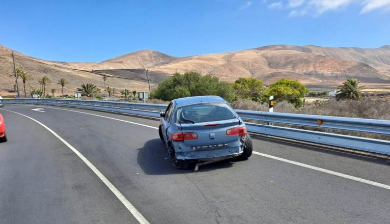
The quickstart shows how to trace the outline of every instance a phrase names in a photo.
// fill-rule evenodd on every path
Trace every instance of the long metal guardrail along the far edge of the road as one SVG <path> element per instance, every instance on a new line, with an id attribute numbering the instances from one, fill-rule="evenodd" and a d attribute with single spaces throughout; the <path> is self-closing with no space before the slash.
<path id="1" fill-rule="evenodd" d="M 116 113 L 125 113 L 159 118 L 160 111 L 166 109 L 165 104 L 145 104 L 99 100 L 65 100 L 65 99 L 2 99 L 1 103 L 38 104 L 52 106 L 67 106 L 75 108 L 95 109 Z M 263 122 L 255 124 L 246 122 L 248 131 L 322 145 L 337 146 L 354 150 L 368 151 L 390 155 L 390 141 L 341 135 L 321 131 L 288 128 L 273 124 L 316 127 L 322 129 L 344 130 L 371 134 L 390 135 L 390 121 L 344 118 L 316 115 L 269 113 L 263 111 L 236 110 L 245 121 Z"/>

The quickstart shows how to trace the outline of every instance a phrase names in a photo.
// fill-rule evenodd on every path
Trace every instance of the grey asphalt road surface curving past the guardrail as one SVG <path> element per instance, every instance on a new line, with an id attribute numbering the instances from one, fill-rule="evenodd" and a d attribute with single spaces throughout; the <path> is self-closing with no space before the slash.
<path id="1" fill-rule="evenodd" d="M 182 171 L 164 159 L 153 128 L 158 121 L 64 107 L 3 109 L 8 142 L 0 144 L 0 223 L 139 223 L 36 121 L 88 159 L 149 223 L 390 222 L 388 160 L 253 136 L 254 151 L 275 157 L 254 154 Z"/>

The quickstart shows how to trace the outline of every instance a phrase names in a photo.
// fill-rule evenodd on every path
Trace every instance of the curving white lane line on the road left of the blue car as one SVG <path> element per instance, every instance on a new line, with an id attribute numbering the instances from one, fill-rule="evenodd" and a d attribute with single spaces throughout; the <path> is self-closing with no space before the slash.
<path id="1" fill-rule="evenodd" d="M 70 145 L 67 141 L 65 141 L 64 138 L 62 138 L 60 135 L 55 133 L 53 130 L 48 128 L 46 125 L 42 124 L 41 122 L 35 120 L 34 118 L 31 118 L 29 116 L 17 113 L 12 110 L 3 109 L 10 111 L 12 113 L 24 116 L 26 118 L 29 118 L 38 124 L 40 124 L 42 127 L 46 128 L 49 132 L 51 132 L 55 137 L 60 139 L 61 142 L 63 142 L 69 149 L 71 149 L 83 162 L 85 162 L 88 167 L 100 178 L 101 181 L 115 194 L 115 196 L 119 199 L 119 201 L 122 202 L 122 204 L 129 210 L 129 212 L 137 219 L 138 222 L 141 224 L 149 224 L 149 221 L 146 220 L 146 218 L 126 199 L 126 197 L 86 158 L 84 157 L 77 149 L 75 149 L 72 145 Z"/>

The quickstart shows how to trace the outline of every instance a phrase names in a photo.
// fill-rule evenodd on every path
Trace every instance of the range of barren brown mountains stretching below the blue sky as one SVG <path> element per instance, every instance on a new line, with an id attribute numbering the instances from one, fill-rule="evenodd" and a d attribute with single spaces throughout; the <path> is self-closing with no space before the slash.
<path id="1" fill-rule="evenodd" d="M 0 45 L 0 90 L 13 90 L 11 49 Z M 239 77 L 256 77 L 266 84 L 280 78 L 298 79 L 312 89 L 335 89 L 346 78 L 356 77 L 374 88 L 390 87 L 390 45 L 380 48 L 319 47 L 313 45 L 271 45 L 226 53 L 172 57 L 141 50 L 100 63 L 52 62 L 15 51 L 17 66 L 34 76 L 38 86 L 44 75 L 56 85 L 58 79 L 70 80 L 66 90 L 73 93 L 80 83 L 92 82 L 103 88 L 102 75 L 109 75 L 107 86 L 147 91 L 146 69 L 152 88 L 175 72 L 199 71 L 233 82 Z M 3 93 L 3 95 L 5 95 Z"/>

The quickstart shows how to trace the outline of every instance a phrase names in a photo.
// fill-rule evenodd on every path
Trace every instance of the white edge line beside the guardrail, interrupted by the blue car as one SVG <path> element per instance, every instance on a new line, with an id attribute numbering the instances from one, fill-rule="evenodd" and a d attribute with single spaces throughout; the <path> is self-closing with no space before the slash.
<path id="1" fill-rule="evenodd" d="M 31 106 L 31 105 L 26 105 L 26 106 Z M 48 107 L 48 106 L 43 106 L 43 107 L 52 108 L 52 109 L 62 109 L 62 108 L 55 108 L 55 107 Z M 71 109 L 62 109 L 62 110 L 69 110 L 69 111 L 73 111 L 73 112 L 77 112 L 77 113 L 88 114 L 88 115 L 93 115 L 93 116 L 98 116 L 98 117 L 103 117 L 103 118 L 108 118 L 108 119 L 113 119 L 113 120 L 123 121 L 123 122 L 128 122 L 128 123 L 134 123 L 134 122 L 125 121 L 125 120 L 121 120 L 121 119 L 116 119 L 116 118 L 110 118 L 110 117 L 105 117 L 105 116 L 101 116 L 101 115 L 85 113 L 85 112 L 81 112 L 81 111 L 77 111 L 77 110 L 71 110 Z M 138 123 L 134 123 L 134 124 L 138 124 Z M 152 126 L 149 126 L 149 125 L 143 125 L 143 124 L 138 124 L 138 125 L 142 125 L 142 126 L 158 129 L 156 127 L 152 127 Z M 279 161 L 282 161 L 282 162 L 287 162 L 287 163 L 294 164 L 294 165 L 299 165 L 299 166 L 306 167 L 306 168 L 309 168 L 309 169 L 312 169 L 312 170 L 320 171 L 320 172 L 323 172 L 323 173 L 335 175 L 335 176 L 338 176 L 338 177 L 343 177 L 343 178 L 346 178 L 346 179 L 350 179 L 350 180 L 354 180 L 354 181 L 358 181 L 358 182 L 361 182 L 361 183 L 366 183 L 366 184 L 370 184 L 370 185 L 373 185 L 373 186 L 382 187 L 382 188 L 390 190 L 390 186 L 389 185 L 381 184 L 381 183 L 374 182 L 374 181 L 371 181 L 371 180 L 366 180 L 366 179 L 350 176 L 350 175 L 347 175 L 347 174 L 342 174 L 342 173 L 339 173 L 339 172 L 326 170 L 326 169 L 323 169 L 323 168 L 320 168 L 320 167 L 317 167 L 317 166 L 308 165 L 308 164 L 304 164 L 304 163 L 300 163 L 300 162 L 295 162 L 295 161 L 292 161 L 292 160 L 288 160 L 288 159 L 284 159 L 284 158 L 280 158 L 280 157 L 264 154 L 264 153 L 261 153 L 261 152 L 253 151 L 253 154 L 256 154 L 256 155 L 259 155 L 259 156 L 264 156 L 264 157 L 275 159 L 275 160 L 279 160 Z"/>

